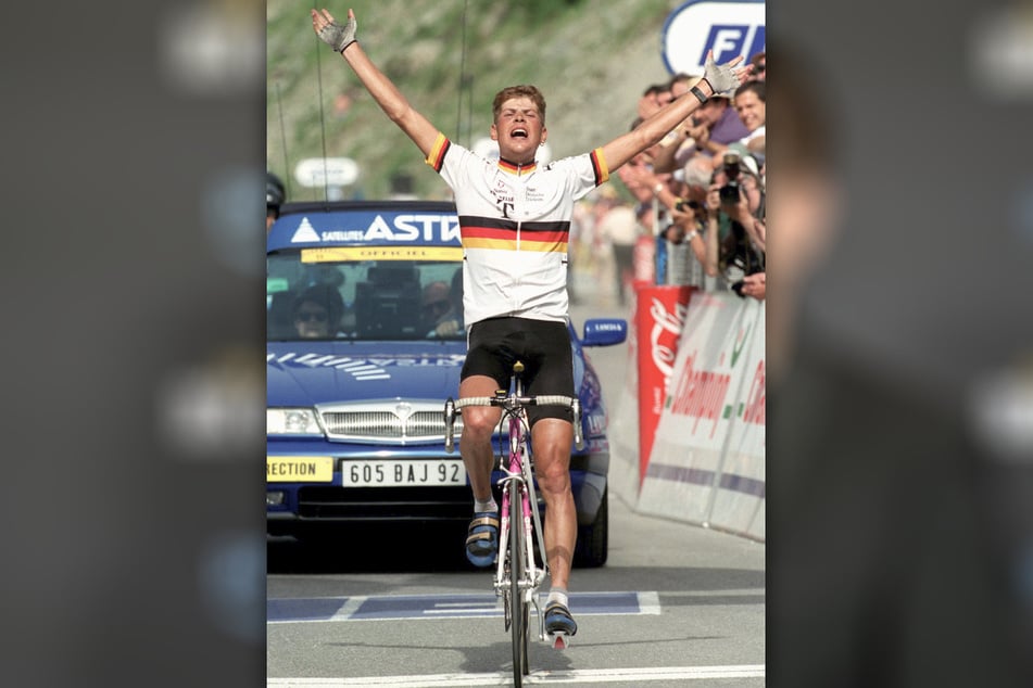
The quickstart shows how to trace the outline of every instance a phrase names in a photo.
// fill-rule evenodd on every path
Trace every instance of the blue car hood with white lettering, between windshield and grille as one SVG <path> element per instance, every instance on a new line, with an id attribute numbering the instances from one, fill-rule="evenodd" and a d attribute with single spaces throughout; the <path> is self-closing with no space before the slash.
<path id="1" fill-rule="evenodd" d="M 269 342 L 266 404 L 458 396 L 465 342 Z"/>

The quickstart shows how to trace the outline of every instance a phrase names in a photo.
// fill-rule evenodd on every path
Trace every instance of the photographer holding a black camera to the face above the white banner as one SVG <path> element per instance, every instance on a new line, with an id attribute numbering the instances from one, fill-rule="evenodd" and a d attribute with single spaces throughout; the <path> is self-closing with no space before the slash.
<path id="1" fill-rule="evenodd" d="M 728 151 L 707 192 L 706 272 L 719 290 L 764 297 L 765 192 L 756 158 Z M 749 277 L 751 279 L 746 280 Z"/>

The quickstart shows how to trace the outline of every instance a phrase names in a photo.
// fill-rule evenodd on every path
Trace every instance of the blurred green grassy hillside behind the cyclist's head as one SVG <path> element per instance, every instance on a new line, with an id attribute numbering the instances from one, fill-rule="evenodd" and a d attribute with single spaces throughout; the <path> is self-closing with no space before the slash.
<path id="1" fill-rule="evenodd" d="M 317 4 L 339 20 L 348 14 L 348 3 Z M 380 0 L 351 7 L 366 52 L 445 135 L 473 145 L 488 136 L 495 92 L 534 84 L 549 103 L 550 146 L 558 158 L 626 130 L 645 87 L 668 78 L 660 31 L 679 4 Z M 266 160 L 288 182 L 289 200 L 323 198 L 322 189 L 299 186 L 288 170 L 324 155 L 358 164 L 361 176 L 345 191 L 349 198 L 382 198 L 395 174 L 412 177 L 420 196 L 445 198 L 448 189 L 413 143 L 388 122 L 341 58 L 318 42 L 308 5 L 268 0 L 266 12 Z"/>

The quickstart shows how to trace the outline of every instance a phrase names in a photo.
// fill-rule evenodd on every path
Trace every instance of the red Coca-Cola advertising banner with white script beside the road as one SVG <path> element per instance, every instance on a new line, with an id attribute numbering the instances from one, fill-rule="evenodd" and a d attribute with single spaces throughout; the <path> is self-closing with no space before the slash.
<path id="1" fill-rule="evenodd" d="M 694 286 L 639 285 L 634 335 L 639 373 L 639 481 L 645 477 Z"/>

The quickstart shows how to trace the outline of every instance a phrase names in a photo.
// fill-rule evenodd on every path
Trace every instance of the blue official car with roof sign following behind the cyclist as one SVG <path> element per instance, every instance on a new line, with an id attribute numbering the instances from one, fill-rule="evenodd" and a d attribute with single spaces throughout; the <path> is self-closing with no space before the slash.
<path id="1" fill-rule="evenodd" d="M 267 241 L 270 535 L 413 521 L 465 528 L 473 496 L 458 454 L 444 450 L 443 415 L 466 355 L 462 266 L 449 202 L 281 207 Z M 609 443 L 583 348 L 623 342 L 628 326 L 591 319 L 583 335 L 568 327 L 584 436 L 582 450 L 571 446 L 575 564 L 599 566 L 607 556 Z M 461 422 L 456 437 L 462 444 Z"/>

